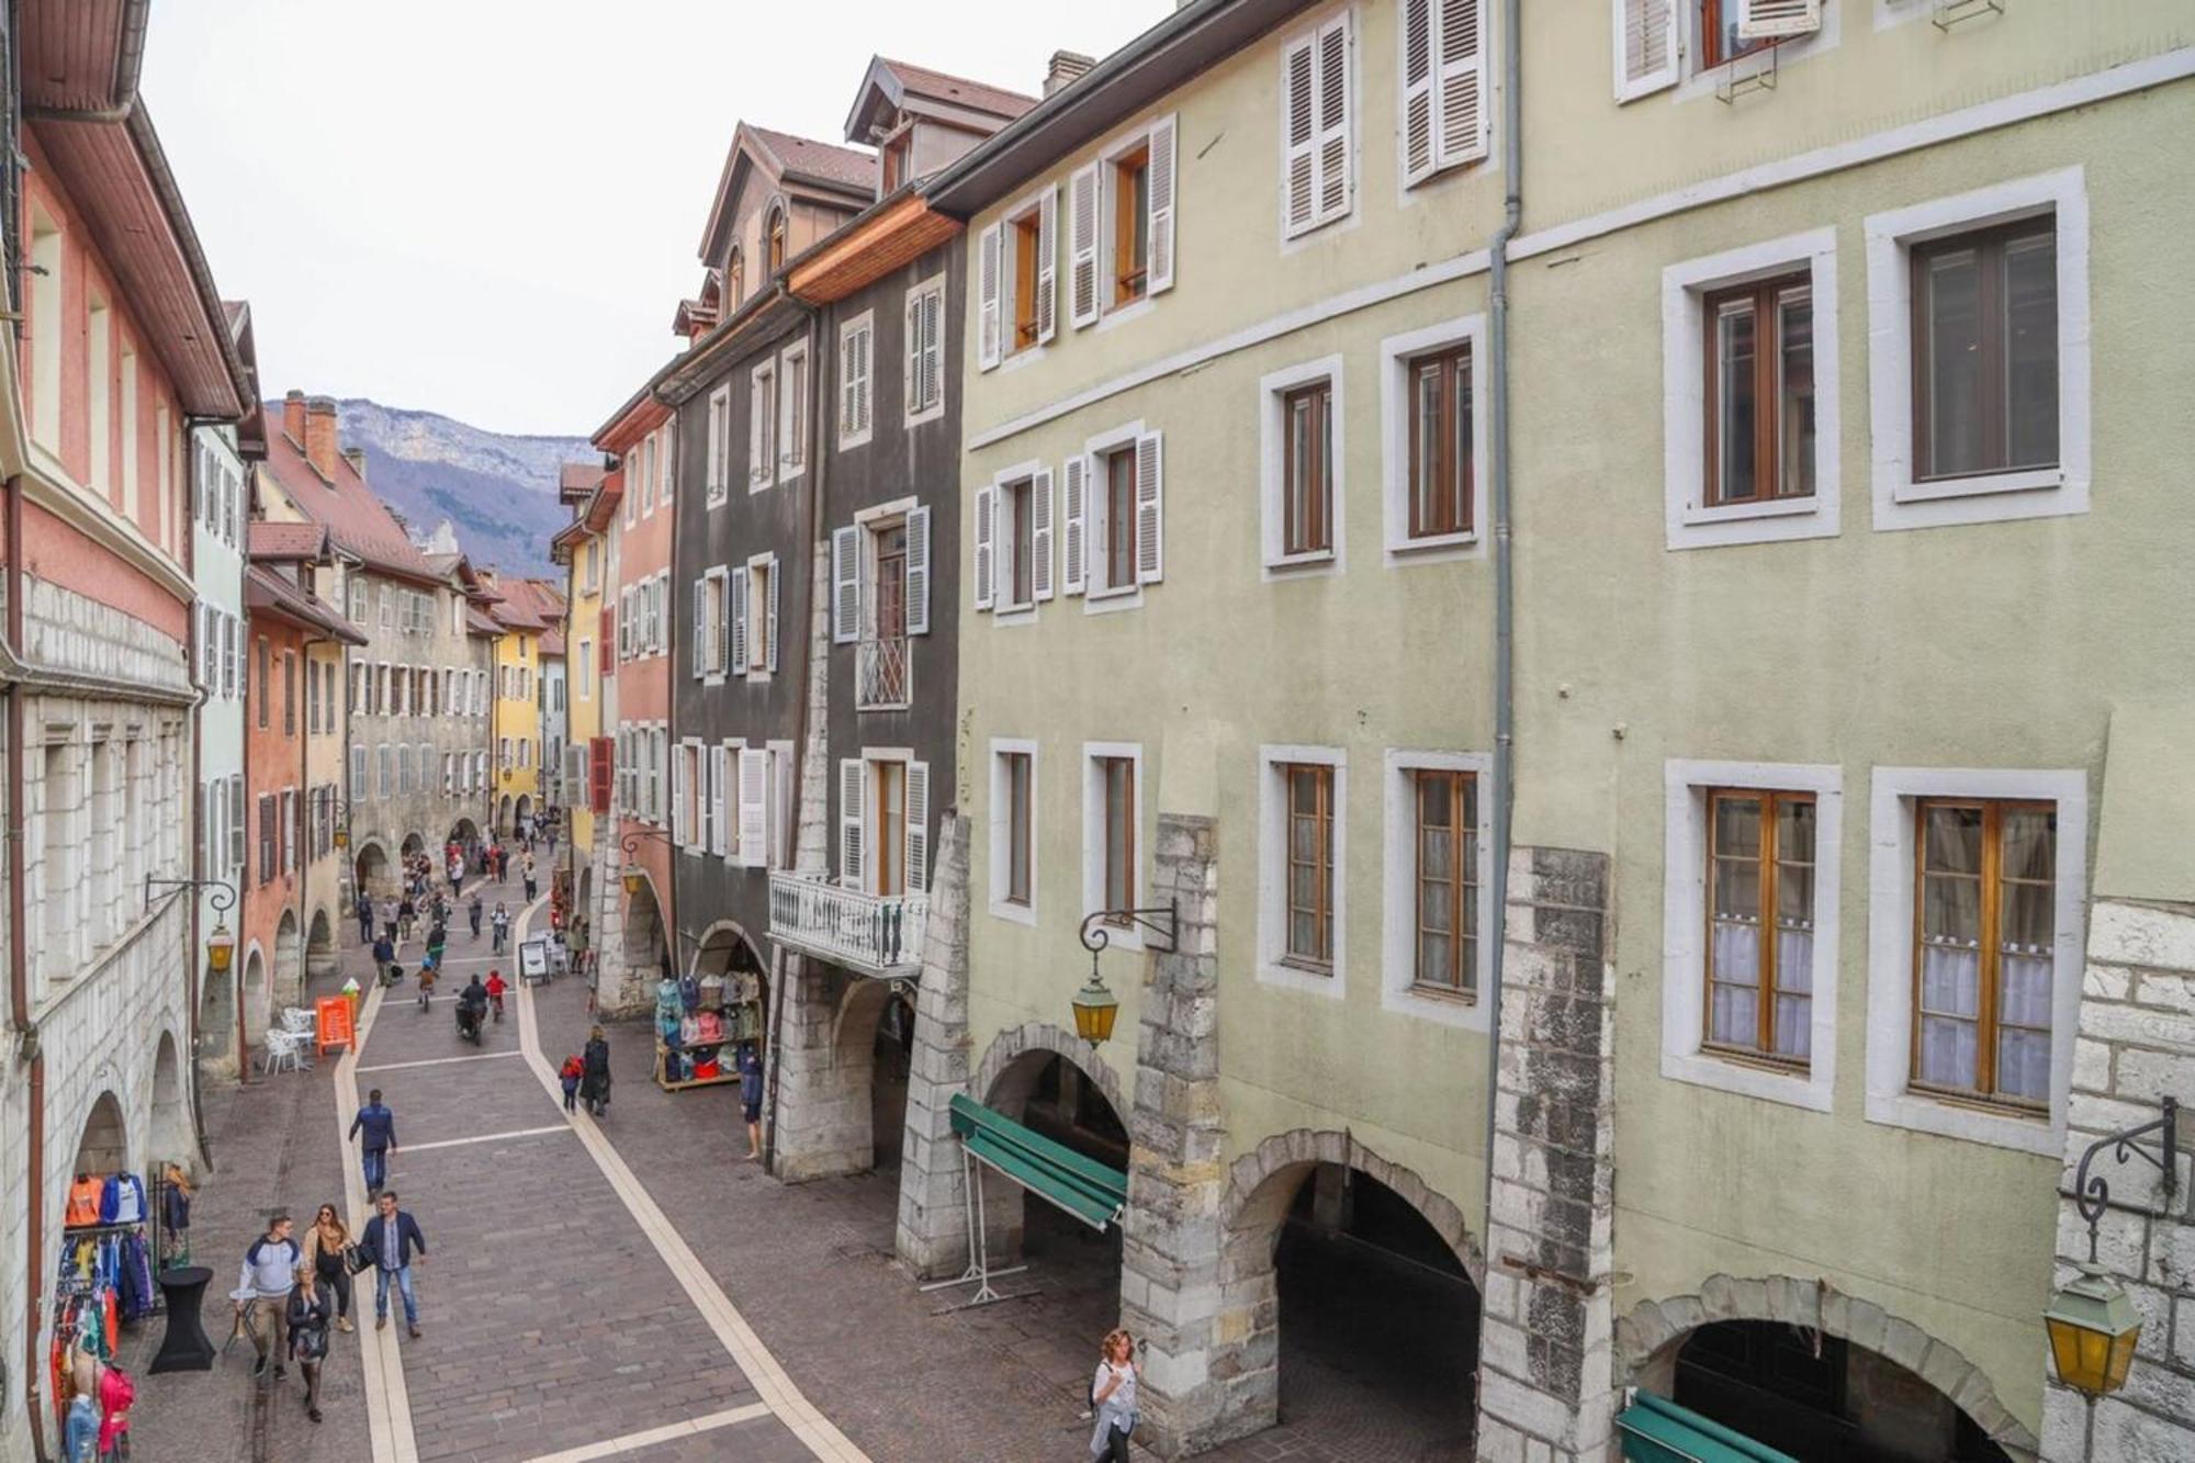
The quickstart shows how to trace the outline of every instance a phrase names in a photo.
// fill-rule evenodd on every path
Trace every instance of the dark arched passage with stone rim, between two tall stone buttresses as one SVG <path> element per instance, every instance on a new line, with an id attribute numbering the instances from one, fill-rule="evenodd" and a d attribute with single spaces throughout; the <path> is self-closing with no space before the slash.
<path id="1" fill-rule="evenodd" d="M 1275 1133 L 1229 1169 L 1209 1369 L 1225 1430 L 1308 1417 L 1396 1456 L 1468 1456 L 1486 1265 L 1462 1210 L 1350 1133 Z"/>

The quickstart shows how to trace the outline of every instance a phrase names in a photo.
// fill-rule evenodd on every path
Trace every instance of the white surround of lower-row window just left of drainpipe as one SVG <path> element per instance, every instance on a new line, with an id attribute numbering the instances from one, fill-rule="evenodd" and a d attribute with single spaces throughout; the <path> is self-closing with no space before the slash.
<path id="1" fill-rule="evenodd" d="M 1418 916 L 1416 916 L 1416 885 L 1418 885 L 1418 789 L 1411 780 L 1414 771 L 1468 771 L 1479 780 L 1479 824 L 1477 824 L 1477 846 L 1479 846 L 1479 949 L 1477 949 L 1477 995 L 1440 995 L 1427 993 L 1416 984 L 1418 975 Z M 1490 780 L 1495 771 L 1493 753 L 1486 751 L 1387 751 L 1387 797 L 1385 797 L 1385 839 L 1381 859 L 1381 903 L 1383 903 L 1383 925 L 1381 925 L 1381 1008 L 1396 1010 L 1400 1015 L 1422 1017 L 1427 1021 L 1438 1021 L 1440 1026 L 1460 1026 L 1464 1030 L 1486 1030 L 1490 1024 L 1490 1010 L 1486 991 L 1493 978 L 1493 931 L 1495 931 L 1495 892 L 1493 892 L 1493 797 Z M 1339 775 L 1337 775 L 1339 789 Z M 1339 791 L 1335 795 L 1339 804 Z M 1335 828 L 1341 828 L 1341 819 L 1335 817 Z M 1337 833 L 1339 837 L 1339 833 Z M 1339 846 L 1335 859 L 1335 887 L 1341 885 L 1341 861 Z M 1335 925 L 1335 953 L 1341 953 L 1341 925 Z M 1286 967 L 1284 967 L 1286 969 Z M 1299 975 L 1299 971 L 1288 971 Z"/>

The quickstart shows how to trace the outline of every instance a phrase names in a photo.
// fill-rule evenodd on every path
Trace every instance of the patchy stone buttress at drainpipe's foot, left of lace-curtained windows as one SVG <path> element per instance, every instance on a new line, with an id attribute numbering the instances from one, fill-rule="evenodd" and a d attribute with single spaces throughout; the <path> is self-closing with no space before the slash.
<path id="1" fill-rule="evenodd" d="M 1477 1456 L 1602 1459 L 1613 1386 L 1609 857 L 1508 870 Z"/>

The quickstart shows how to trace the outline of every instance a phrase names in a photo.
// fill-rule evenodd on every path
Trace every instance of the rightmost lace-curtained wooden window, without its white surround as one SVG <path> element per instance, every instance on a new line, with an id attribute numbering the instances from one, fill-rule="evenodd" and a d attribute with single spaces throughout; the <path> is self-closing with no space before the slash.
<path id="1" fill-rule="evenodd" d="M 2057 808 L 1932 797 L 1916 817 L 1912 1083 L 2048 1107 Z"/>

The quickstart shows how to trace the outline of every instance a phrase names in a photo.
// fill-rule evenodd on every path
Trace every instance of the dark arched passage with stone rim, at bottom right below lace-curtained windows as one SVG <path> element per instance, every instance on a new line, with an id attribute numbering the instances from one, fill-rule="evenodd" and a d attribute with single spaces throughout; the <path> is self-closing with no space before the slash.
<path id="1" fill-rule="evenodd" d="M 1616 1322 L 1616 1382 L 1800 1459 L 1993 1463 L 2035 1434 L 1956 1347 L 1817 1278 L 1710 1276 Z"/>

